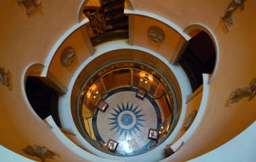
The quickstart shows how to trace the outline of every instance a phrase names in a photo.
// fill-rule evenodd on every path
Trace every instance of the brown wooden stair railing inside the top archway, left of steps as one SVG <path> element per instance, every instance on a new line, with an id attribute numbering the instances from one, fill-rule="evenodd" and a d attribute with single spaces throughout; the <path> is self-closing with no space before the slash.
<path id="1" fill-rule="evenodd" d="M 93 29 L 94 34 L 99 34 L 102 32 L 105 32 L 106 28 L 106 22 L 105 22 L 105 16 L 103 14 L 103 5 L 102 0 L 99 0 L 100 7 L 97 9 L 97 11 L 93 12 L 92 14 L 87 11 L 85 16 L 90 20 L 91 27 Z M 100 17 L 100 18 L 99 18 Z"/>

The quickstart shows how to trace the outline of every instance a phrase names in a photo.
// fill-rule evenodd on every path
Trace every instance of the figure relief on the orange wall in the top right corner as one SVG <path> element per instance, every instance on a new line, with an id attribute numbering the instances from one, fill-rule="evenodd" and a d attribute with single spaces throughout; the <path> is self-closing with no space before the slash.
<path id="1" fill-rule="evenodd" d="M 224 21 L 228 31 L 230 30 L 228 23 L 234 24 L 234 20 L 231 16 L 232 12 L 237 8 L 240 7 L 241 11 L 245 9 L 245 1 L 246 0 L 233 0 L 230 2 L 226 9 L 226 13 L 222 16 L 222 20 Z"/>

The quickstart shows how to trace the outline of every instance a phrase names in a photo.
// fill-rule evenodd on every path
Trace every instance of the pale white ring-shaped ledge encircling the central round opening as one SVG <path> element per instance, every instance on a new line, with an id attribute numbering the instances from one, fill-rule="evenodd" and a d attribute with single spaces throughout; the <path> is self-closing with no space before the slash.
<path id="1" fill-rule="evenodd" d="M 131 156 L 131 157 L 117 157 L 113 155 L 109 155 L 106 153 L 103 153 L 97 148 L 91 146 L 84 138 L 81 136 L 81 134 L 78 132 L 74 121 L 72 119 L 72 112 L 70 109 L 70 99 L 71 99 L 71 92 L 72 92 L 72 87 L 74 85 L 74 82 L 76 81 L 76 78 L 82 71 L 82 69 L 90 63 L 93 59 L 98 57 L 99 55 L 102 55 L 103 53 L 107 53 L 109 51 L 113 51 L 116 49 L 135 49 L 139 51 L 144 51 L 146 53 L 150 53 L 151 55 L 154 55 L 161 61 L 163 61 L 170 70 L 174 73 L 176 76 L 176 79 L 178 80 L 178 83 L 180 84 L 181 92 L 182 92 L 182 113 L 180 114 L 180 119 L 178 121 L 178 124 L 176 125 L 176 128 L 170 134 L 170 136 L 159 146 L 154 148 L 153 150 L 143 153 L 142 155 L 136 155 L 136 156 Z M 186 99 L 189 97 L 190 94 L 192 94 L 190 82 L 188 78 L 186 77 L 186 74 L 184 73 L 184 70 L 180 65 L 172 65 L 169 63 L 167 59 L 159 55 L 158 53 L 155 53 L 154 51 L 151 51 L 149 49 L 143 48 L 143 47 L 138 47 L 138 46 L 130 46 L 127 41 L 111 41 L 109 43 L 103 43 L 102 45 L 99 45 L 95 48 L 95 55 L 92 55 L 91 57 L 88 57 L 86 61 L 84 61 L 74 76 L 72 77 L 72 80 L 70 80 L 70 84 L 68 86 L 68 92 L 67 94 L 64 94 L 59 97 L 59 119 L 61 121 L 61 126 L 65 128 L 66 130 L 70 130 L 76 134 L 76 138 L 80 140 L 80 142 L 83 144 L 83 146 L 88 149 L 91 153 L 104 157 L 106 159 L 116 159 L 116 160 L 122 160 L 122 161 L 159 161 L 164 158 L 164 151 L 163 149 L 165 148 L 166 144 L 170 144 L 173 142 L 173 140 L 176 138 L 176 135 L 178 132 L 180 132 L 180 129 L 182 129 L 182 124 L 185 119 L 186 115 Z"/>

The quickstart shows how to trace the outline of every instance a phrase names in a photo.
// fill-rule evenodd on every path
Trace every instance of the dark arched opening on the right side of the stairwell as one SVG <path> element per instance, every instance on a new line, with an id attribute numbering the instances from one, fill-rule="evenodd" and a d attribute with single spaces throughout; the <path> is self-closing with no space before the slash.
<path id="1" fill-rule="evenodd" d="M 193 92 L 203 84 L 203 74 L 212 74 L 215 67 L 215 46 L 204 31 L 190 39 L 179 63 L 186 72 Z"/>

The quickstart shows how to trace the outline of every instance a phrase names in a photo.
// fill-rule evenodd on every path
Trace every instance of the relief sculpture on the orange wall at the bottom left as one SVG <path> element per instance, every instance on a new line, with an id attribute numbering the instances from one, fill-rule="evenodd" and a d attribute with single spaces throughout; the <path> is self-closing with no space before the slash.
<path id="1" fill-rule="evenodd" d="M 52 151 L 49 151 L 49 149 L 45 146 L 38 146 L 36 144 L 34 144 L 34 146 L 36 149 L 28 145 L 26 146 L 26 148 L 23 148 L 22 151 L 27 155 L 31 155 L 32 157 L 39 157 L 42 162 L 46 162 L 46 159 L 53 159 L 53 157 L 59 157 Z"/>

